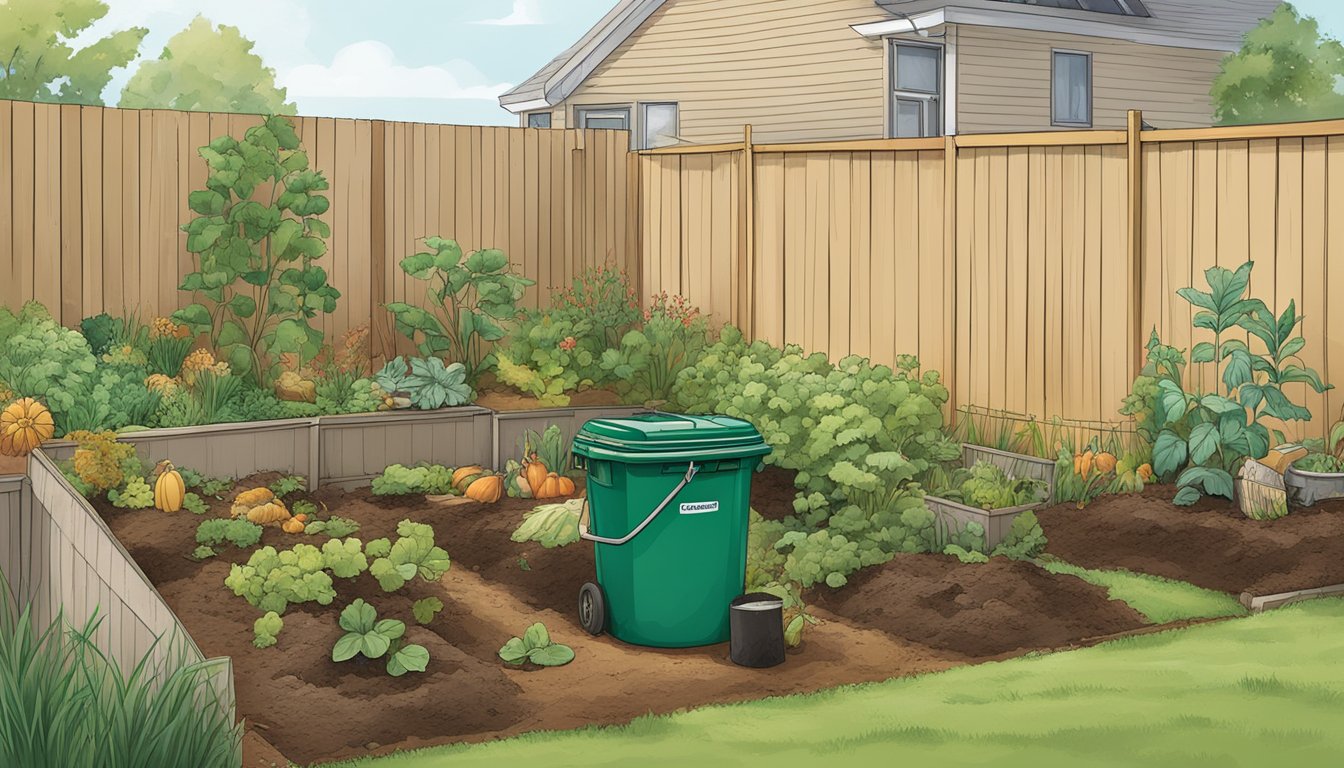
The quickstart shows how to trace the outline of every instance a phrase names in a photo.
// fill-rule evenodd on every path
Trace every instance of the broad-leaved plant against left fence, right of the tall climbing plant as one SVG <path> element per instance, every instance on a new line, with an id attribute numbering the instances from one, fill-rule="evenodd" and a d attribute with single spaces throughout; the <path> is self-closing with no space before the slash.
<path id="1" fill-rule="evenodd" d="M 425 239 L 429 252 L 402 260 L 407 276 L 425 281 L 425 305 L 387 304 L 396 330 L 414 342 L 421 355 L 448 355 L 466 369 L 474 383 L 488 363 L 487 342 L 504 338 L 500 323 L 513 320 L 517 303 L 534 281 L 513 274 L 501 250 L 462 254 L 452 239 Z"/>

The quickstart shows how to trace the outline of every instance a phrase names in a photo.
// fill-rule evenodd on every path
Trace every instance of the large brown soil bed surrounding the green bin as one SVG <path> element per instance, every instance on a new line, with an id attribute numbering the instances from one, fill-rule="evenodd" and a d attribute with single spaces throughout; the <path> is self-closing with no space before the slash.
<path id="1" fill-rule="evenodd" d="M 274 477 L 255 476 L 241 487 Z M 753 504 L 767 516 L 782 516 L 788 510 L 780 507 L 792 502 L 792 491 L 780 487 L 790 488 L 789 480 L 780 472 L 758 477 Z M 202 651 L 233 658 L 238 713 L 255 729 L 253 752 L 263 740 L 302 764 L 624 724 L 648 713 L 883 681 L 1003 651 L 1054 648 L 1141 623 L 1120 611 L 1121 604 L 1107 601 L 1103 590 L 1073 577 L 1020 564 L 960 566 L 949 558 L 903 557 L 855 578 L 855 589 L 825 596 L 814 609 L 821 625 L 808 629 L 786 663 L 747 670 L 730 662 L 727 644 L 653 650 L 585 633 L 575 604 L 578 588 L 593 578 L 593 547 L 577 543 L 546 550 L 509 541 L 534 502 L 434 506 L 421 498 L 386 499 L 368 490 L 335 488 L 310 498 L 331 514 L 359 521 L 356 535 L 363 541 L 395 535 L 396 523 L 407 518 L 430 523 L 453 566 L 438 582 L 415 580 L 392 594 L 368 574 L 336 580 L 336 604 L 292 607 L 278 644 L 258 650 L 251 644 L 251 625 L 259 613 L 223 586 L 228 565 L 245 562 L 247 553 L 224 547 L 198 564 L 187 553 L 196 546 L 202 518 L 95 503 Z M 226 500 L 210 503 L 210 515 L 227 515 Z M 298 541 L 312 543 L 267 529 L 262 543 L 284 547 Z M 988 570 L 977 576 L 976 568 Z M 866 599 L 840 597 L 851 592 Z M 429 596 L 439 597 L 445 608 L 422 627 L 411 617 L 411 604 Z M 336 619 L 355 597 L 372 603 L 380 617 L 407 623 L 409 640 L 430 652 L 425 674 L 390 678 L 382 662 L 331 662 L 331 648 L 341 635 Z M 900 604 L 905 612 L 891 612 L 887 620 L 875 613 L 874 604 Z M 1042 620 L 1042 612 L 1051 619 Z M 546 670 L 501 663 L 500 646 L 534 621 L 546 623 L 556 642 L 571 646 L 575 662 Z M 984 644 L 974 638 L 1001 636 L 1005 629 L 1011 640 Z"/>

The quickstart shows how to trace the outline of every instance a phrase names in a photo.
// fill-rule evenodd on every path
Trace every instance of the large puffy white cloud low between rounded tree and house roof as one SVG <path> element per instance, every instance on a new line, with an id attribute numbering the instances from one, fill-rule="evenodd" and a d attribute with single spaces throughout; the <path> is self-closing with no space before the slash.
<path id="1" fill-rule="evenodd" d="M 513 87 L 489 83 L 468 62 L 409 67 L 396 63 L 390 47 L 364 40 L 336 51 L 331 65 L 300 65 L 284 73 L 280 85 L 292 98 L 430 98 L 493 101 Z"/>

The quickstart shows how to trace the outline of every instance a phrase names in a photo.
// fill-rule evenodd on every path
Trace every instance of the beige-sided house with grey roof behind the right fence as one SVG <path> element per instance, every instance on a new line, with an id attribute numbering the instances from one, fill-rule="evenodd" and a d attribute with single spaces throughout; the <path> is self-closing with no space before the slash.
<path id="1" fill-rule="evenodd" d="M 621 0 L 500 97 L 637 148 L 1208 125 L 1219 62 L 1279 0 Z"/>

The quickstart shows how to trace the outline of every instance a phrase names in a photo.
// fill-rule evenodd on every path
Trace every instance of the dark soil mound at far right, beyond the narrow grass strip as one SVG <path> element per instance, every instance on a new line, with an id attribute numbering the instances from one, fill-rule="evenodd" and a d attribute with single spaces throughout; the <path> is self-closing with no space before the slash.
<path id="1" fill-rule="evenodd" d="M 1036 512 L 1046 551 L 1083 568 L 1125 568 L 1238 594 L 1344 584 L 1344 500 L 1251 521 L 1224 499 L 1171 503 L 1175 488 Z"/>

